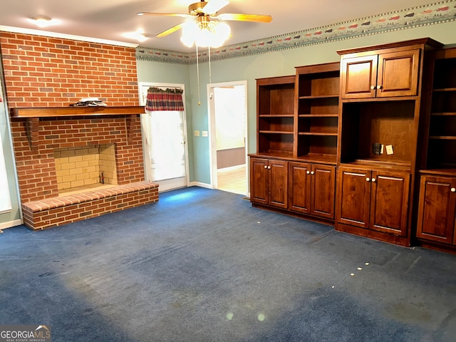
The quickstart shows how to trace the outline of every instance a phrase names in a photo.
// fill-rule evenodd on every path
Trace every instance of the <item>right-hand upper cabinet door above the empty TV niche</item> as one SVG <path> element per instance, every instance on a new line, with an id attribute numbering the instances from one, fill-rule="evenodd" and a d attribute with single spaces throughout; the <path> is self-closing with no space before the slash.
<path id="1" fill-rule="evenodd" d="M 416 95 L 419 65 L 419 49 L 378 55 L 377 97 Z"/>

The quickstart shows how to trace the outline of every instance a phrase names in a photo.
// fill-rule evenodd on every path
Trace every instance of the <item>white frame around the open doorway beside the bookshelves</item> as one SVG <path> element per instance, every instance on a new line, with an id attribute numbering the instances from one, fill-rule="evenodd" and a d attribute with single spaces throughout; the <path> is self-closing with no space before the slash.
<path id="1" fill-rule="evenodd" d="M 219 87 L 229 87 L 229 86 L 244 86 L 245 91 L 245 137 L 244 137 L 244 154 L 245 154 L 245 179 L 246 179 L 246 196 L 249 196 L 249 165 L 248 165 L 248 151 L 249 151 L 249 139 L 248 139 L 248 110 L 247 110 L 247 80 L 244 81 L 231 81 L 231 82 L 221 82 L 221 83 L 208 83 L 207 84 L 207 108 L 209 110 L 208 120 L 209 120 L 209 165 L 211 168 L 210 180 L 211 180 L 211 189 L 217 189 L 217 137 L 216 137 L 216 123 L 215 123 L 215 108 L 213 98 L 212 88 Z"/>

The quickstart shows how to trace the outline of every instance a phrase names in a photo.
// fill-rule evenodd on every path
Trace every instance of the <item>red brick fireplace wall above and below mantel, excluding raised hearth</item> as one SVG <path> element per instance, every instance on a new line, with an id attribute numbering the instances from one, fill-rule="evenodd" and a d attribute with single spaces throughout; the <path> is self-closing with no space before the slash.
<path id="1" fill-rule="evenodd" d="M 0 32 L 9 108 L 97 97 L 139 105 L 135 49 Z M 118 184 L 144 180 L 139 115 L 11 119 L 22 202 L 58 195 L 53 149 L 116 144 Z"/>

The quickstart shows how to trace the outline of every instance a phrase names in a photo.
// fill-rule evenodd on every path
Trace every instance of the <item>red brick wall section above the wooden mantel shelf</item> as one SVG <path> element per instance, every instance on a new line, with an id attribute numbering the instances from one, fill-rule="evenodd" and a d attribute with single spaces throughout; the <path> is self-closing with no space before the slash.
<path id="1" fill-rule="evenodd" d="M 139 105 L 134 48 L 6 32 L 0 44 L 10 107 Z"/>

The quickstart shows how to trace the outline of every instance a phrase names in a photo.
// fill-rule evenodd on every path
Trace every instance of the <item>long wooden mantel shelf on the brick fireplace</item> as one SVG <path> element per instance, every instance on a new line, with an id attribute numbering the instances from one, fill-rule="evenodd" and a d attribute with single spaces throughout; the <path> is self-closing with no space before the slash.
<path id="1" fill-rule="evenodd" d="M 122 107 L 74 106 L 74 107 L 27 107 L 11 108 L 12 118 L 58 118 L 59 116 L 85 115 L 135 115 L 145 114 L 142 105 Z"/>

